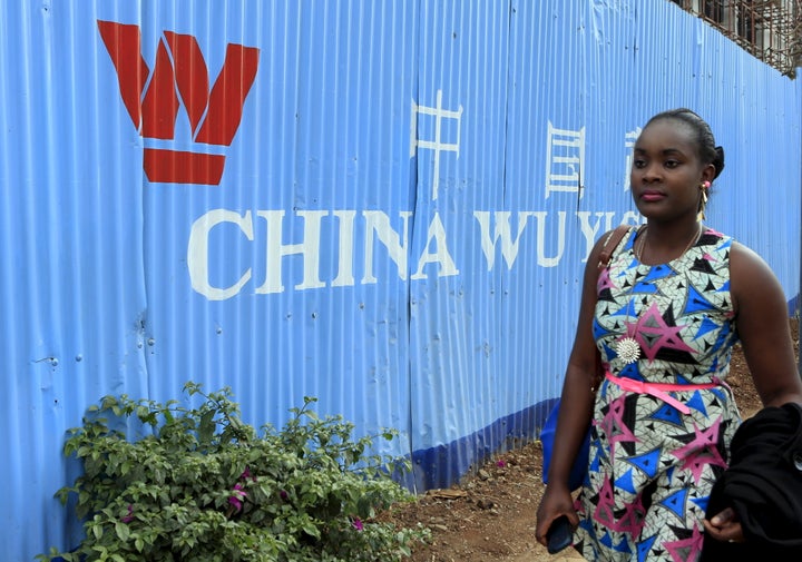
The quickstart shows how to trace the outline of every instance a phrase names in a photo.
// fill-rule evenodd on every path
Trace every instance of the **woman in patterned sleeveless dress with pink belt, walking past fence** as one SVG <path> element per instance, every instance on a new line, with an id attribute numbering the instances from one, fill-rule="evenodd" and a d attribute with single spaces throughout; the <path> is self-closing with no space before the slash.
<path id="1" fill-rule="evenodd" d="M 653 117 L 635 144 L 632 194 L 647 224 L 602 274 L 602 241 L 587 262 L 538 509 L 542 544 L 560 515 L 588 560 L 697 560 L 705 523 L 718 541 L 744 540 L 730 509 L 705 522 L 741 423 L 724 383 L 732 346 L 742 343 L 765 406 L 802 403 L 802 384 L 776 277 L 701 223 L 723 168 L 708 125 L 687 109 Z M 591 418 L 588 479 L 575 502 L 568 472 Z"/>

